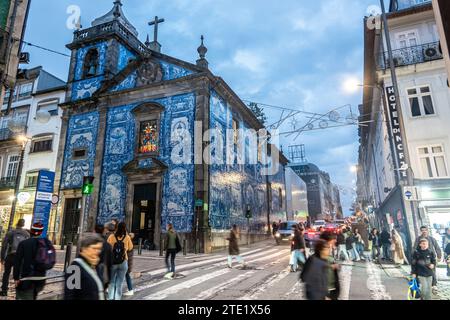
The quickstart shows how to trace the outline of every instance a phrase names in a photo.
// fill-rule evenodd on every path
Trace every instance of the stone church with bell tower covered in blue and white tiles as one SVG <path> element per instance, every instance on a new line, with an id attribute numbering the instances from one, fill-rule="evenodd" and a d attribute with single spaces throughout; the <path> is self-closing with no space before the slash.
<path id="1" fill-rule="evenodd" d="M 161 22 L 152 22 L 156 30 Z M 84 230 L 118 219 L 136 240 L 155 248 L 169 222 L 191 250 L 197 243 L 201 252 L 210 252 L 226 244 L 233 224 L 245 236 L 247 208 L 252 240 L 267 235 L 270 221 L 284 219 L 283 168 L 267 177 L 260 164 L 210 166 L 195 159 L 208 143 L 194 141 L 209 128 L 217 128 L 226 141 L 226 129 L 263 127 L 209 71 L 203 38 L 196 64 L 164 55 L 157 32 L 153 42 L 139 41 L 121 1 L 115 1 L 90 28 L 76 31 L 68 48 L 72 56 L 56 176 L 61 242 L 75 240 L 84 176 L 95 177 Z"/>

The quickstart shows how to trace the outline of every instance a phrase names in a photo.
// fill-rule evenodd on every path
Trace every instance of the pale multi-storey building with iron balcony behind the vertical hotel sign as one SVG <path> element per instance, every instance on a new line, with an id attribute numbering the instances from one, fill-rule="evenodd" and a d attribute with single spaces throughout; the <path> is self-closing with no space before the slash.
<path id="1" fill-rule="evenodd" d="M 360 121 L 371 122 L 359 129 L 358 200 L 366 212 L 374 208 L 378 227 L 398 226 L 414 241 L 421 225 L 434 226 L 437 233 L 450 223 L 450 197 L 443 196 L 450 191 L 450 89 L 431 1 L 393 0 L 390 9 L 400 101 L 392 95 L 383 29 L 372 30 L 365 23 Z M 399 116 L 410 167 L 404 163 Z M 414 186 L 406 185 L 408 169 Z"/>

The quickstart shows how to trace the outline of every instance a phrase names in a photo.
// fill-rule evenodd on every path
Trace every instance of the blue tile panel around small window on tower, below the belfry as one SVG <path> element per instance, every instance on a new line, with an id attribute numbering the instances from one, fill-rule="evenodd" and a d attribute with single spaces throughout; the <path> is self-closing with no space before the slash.
<path id="1" fill-rule="evenodd" d="M 83 185 L 84 176 L 94 175 L 98 120 L 98 112 L 79 114 L 70 118 L 64 151 L 62 189 L 79 189 Z M 86 157 L 74 160 L 72 155 L 76 149 L 86 149 Z"/>

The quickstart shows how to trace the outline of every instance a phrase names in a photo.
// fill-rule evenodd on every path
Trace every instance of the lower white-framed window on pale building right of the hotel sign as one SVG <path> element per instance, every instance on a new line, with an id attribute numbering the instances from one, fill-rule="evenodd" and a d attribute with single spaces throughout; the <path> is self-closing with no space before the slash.
<path id="1" fill-rule="evenodd" d="M 442 146 L 419 148 L 420 168 L 424 178 L 448 177 L 447 163 Z"/>

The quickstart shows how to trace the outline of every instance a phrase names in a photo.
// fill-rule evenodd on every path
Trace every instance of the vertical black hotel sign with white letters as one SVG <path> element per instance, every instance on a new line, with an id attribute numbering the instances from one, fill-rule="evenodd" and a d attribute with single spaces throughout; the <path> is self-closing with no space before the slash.
<path id="1" fill-rule="evenodd" d="M 392 137 L 394 139 L 395 152 L 397 156 L 397 170 L 400 172 L 400 179 L 407 180 L 408 179 L 408 164 L 405 159 L 405 148 L 403 141 L 403 132 L 400 127 L 400 114 L 397 108 L 397 97 L 395 94 L 394 87 L 386 87 L 386 94 L 389 105 L 389 115 L 391 118 L 391 128 L 392 128 Z"/>

